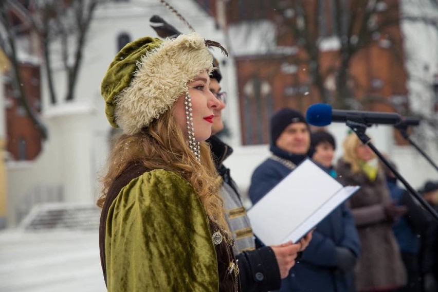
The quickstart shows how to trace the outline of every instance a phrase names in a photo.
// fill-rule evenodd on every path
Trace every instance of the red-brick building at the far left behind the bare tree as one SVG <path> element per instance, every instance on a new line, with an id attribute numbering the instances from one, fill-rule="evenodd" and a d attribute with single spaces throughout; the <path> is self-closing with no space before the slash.
<path id="1" fill-rule="evenodd" d="M 25 5 L 29 5 L 26 3 Z M 10 7 L 9 17 L 14 27 L 15 53 L 19 63 L 21 84 L 29 107 L 41 114 L 41 86 L 39 51 L 34 35 L 29 29 L 29 20 L 26 19 L 14 5 Z M 41 152 L 42 137 L 38 129 L 28 117 L 25 107 L 19 98 L 19 93 L 13 87 L 13 66 L 8 62 L 3 84 L 4 105 L 6 116 L 6 151 L 13 160 L 33 160 Z"/>

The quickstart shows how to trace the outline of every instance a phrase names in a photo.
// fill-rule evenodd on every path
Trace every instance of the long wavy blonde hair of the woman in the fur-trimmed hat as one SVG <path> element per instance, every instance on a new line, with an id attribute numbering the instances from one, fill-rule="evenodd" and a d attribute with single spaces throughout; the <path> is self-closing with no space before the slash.
<path id="1" fill-rule="evenodd" d="M 189 181 L 201 200 L 208 217 L 228 231 L 223 200 L 218 194 L 221 178 L 217 175 L 210 147 L 200 142 L 201 163 L 190 151 L 181 129 L 168 109 L 148 127 L 134 135 L 121 135 L 108 156 L 107 172 L 102 177 L 102 193 L 97 200 L 103 206 L 114 179 L 132 162 L 148 169 L 164 169 L 179 173 Z"/>

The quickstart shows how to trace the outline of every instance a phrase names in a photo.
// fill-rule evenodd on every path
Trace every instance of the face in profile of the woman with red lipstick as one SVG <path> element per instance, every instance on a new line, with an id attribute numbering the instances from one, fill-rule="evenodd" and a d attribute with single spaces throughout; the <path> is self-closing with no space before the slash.
<path id="1" fill-rule="evenodd" d="M 193 121 L 191 123 L 193 123 L 196 141 L 204 141 L 211 136 L 213 111 L 220 106 L 220 101 L 210 92 L 209 84 L 210 78 L 206 72 L 202 72 L 187 84 L 192 103 L 191 118 Z M 173 111 L 176 123 L 184 136 L 188 137 L 185 98 L 185 94 L 178 97 Z"/>

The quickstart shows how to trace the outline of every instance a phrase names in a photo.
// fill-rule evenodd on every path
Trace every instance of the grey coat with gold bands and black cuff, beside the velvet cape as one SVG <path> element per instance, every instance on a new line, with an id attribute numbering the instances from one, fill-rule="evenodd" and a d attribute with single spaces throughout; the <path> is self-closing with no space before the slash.
<path id="1" fill-rule="evenodd" d="M 210 143 L 216 170 L 223 178 L 221 195 L 225 201 L 227 222 L 235 239 L 233 251 L 239 261 L 242 291 L 263 292 L 278 289 L 281 278 L 275 253 L 270 247 L 255 249 L 246 209 L 230 176 L 230 170 L 223 165 L 223 161 L 231 155 L 232 148 L 216 136 L 210 137 L 207 142 Z"/>

